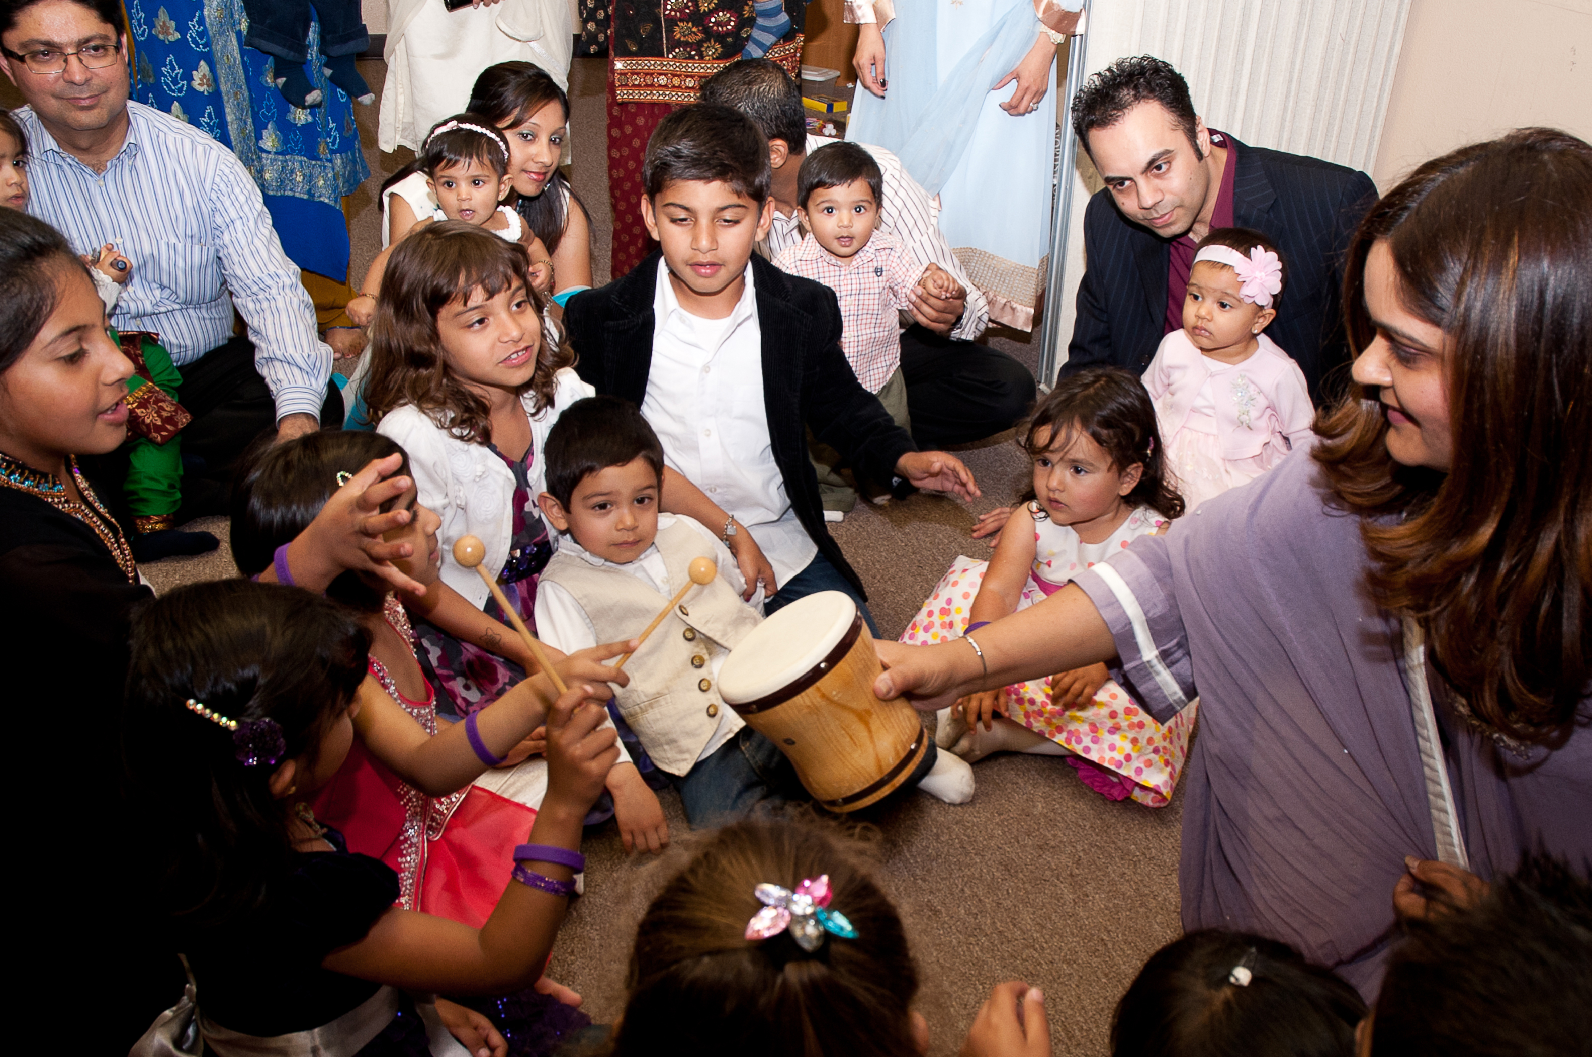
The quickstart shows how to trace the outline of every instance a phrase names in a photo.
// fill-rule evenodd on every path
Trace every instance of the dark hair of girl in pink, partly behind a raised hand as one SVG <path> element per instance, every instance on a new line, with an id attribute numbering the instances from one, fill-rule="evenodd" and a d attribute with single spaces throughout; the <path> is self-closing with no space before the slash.
<path id="1" fill-rule="evenodd" d="M 409 473 L 409 455 L 392 438 L 368 430 L 320 430 L 285 444 L 263 436 L 240 460 L 232 482 L 232 564 L 245 576 L 264 571 L 275 551 L 315 521 L 342 481 L 368 463 L 401 455 L 398 473 Z M 382 505 L 392 509 L 396 500 Z M 385 587 L 373 587 L 358 573 L 341 573 L 326 597 L 363 613 L 380 611 Z"/>

